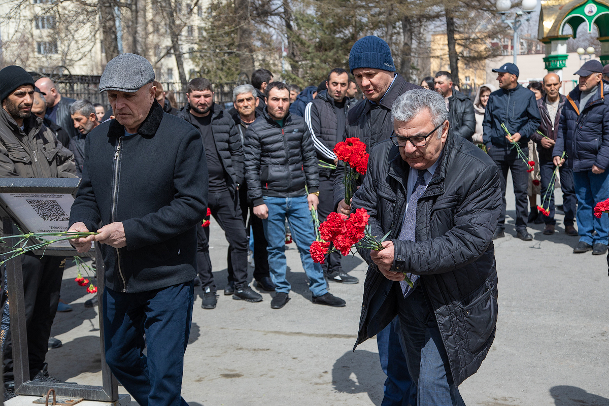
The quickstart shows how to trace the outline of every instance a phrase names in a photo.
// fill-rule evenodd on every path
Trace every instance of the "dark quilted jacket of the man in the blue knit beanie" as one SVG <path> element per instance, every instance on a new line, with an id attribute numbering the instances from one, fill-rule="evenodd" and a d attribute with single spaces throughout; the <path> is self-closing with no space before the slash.
<path id="1" fill-rule="evenodd" d="M 347 138 L 357 137 L 368 147 L 370 152 L 377 142 L 389 139 L 393 133 L 393 121 L 391 119 L 391 107 L 393 102 L 400 97 L 401 94 L 409 90 L 421 89 L 420 86 L 406 82 L 406 79 L 400 74 L 397 74 L 393 84 L 387 93 L 382 97 L 378 107 L 378 114 L 375 113 L 373 122 L 373 114 L 371 113 L 372 103 L 368 99 L 364 99 L 357 103 L 347 114 L 347 127 L 345 127 L 345 135 L 342 141 Z M 345 198 L 345 186 L 342 181 L 344 175 L 342 161 L 336 166 L 336 178 L 334 179 L 334 208 L 339 204 L 339 201 Z M 358 185 L 361 184 L 361 177 Z"/>

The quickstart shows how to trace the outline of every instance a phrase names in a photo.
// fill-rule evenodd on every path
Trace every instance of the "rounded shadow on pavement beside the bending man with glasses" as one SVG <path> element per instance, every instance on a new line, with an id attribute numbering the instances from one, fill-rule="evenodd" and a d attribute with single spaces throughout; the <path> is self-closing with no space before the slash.
<path id="1" fill-rule="evenodd" d="M 332 384 L 340 393 L 367 393 L 376 406 L 381 405 L 385 374 L 381 370 L 379 354 L 356 350 L 347 351 L 332 368 Z"/>

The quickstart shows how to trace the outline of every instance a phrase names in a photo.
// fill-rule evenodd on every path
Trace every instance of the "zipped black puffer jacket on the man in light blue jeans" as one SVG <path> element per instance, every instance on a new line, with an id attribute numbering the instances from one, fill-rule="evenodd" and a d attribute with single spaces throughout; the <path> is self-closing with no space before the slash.
<path id="1" fill-rule="evenodd" d="M 305 119 L 287 113 L 283 127 L 264 110 L 245 131 L 245 179 L 254 206 L 262 196 L 304 196 L 319 190 L 317 157 Z"/>

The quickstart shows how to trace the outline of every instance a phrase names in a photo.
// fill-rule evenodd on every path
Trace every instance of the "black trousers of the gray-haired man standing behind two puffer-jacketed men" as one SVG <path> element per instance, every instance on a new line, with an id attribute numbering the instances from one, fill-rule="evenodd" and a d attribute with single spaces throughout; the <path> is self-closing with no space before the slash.
<path id="1" fill-rule="evenodd" d="M 247 202 L 247 184 L 242 184 L 239 187 L 239 207 L 241 208 L 241 215 L 245 226 L 245 235 L 250 236 L 250 227 L 252 227 L 252 234 L 254 237 L 254 279 L 260 280 L 264 277 L 270 278 L 269 273 L 269 254 L 267 253 L 267 242 L 264 237 L 264 226 L 262 226 L 262 219 L 254 214 L 253 203 Z M 249 222 L 247 220 L 247 213 L 250 213 Z M 231 246 L 228 247 L 229 260 L 228 260 L 228 278 L 231 280 L 231 273 L 233 272 L 230 261 L 230 250 Z"/>

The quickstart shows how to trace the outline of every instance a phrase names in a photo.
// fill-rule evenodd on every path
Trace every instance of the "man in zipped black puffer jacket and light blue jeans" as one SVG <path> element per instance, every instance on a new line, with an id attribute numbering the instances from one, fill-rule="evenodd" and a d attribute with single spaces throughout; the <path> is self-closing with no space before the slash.
<path id="1" fill-rule="evenodd" d="M 319 203 L 318 161 L 309 129 L 302 117 L 288 112 L 290 90 L 285 83 L 273 82 L 267 86 L 266 102 L 262 116 L 245 134 L 245 177 L 254 214 L 262 219 L 269 243 L 269 268 L 275 284 L 270 307 L 281 309 L 289 300 L 286 218 L 309 278 L 312 302 L 345 306 L 343 299 L 328 292 L 322 267 L 313 262 L 309 251 L 315 240 L 309 211 L 317 209 Z"/>

